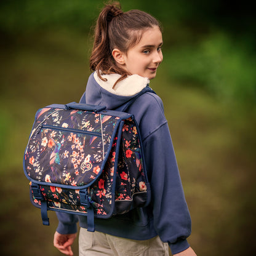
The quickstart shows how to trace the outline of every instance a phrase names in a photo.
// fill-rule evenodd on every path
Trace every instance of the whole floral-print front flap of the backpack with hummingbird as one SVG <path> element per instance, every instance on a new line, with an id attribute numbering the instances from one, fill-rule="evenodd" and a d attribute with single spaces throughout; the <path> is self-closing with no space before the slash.
<path id="1" fill-rule="evenodd" d="M 110 145 L 119 118 L 47 108 L 37 117 L 25 153 L 28 176 L 39 182 L 72 186 L 92 182 L 100 172 L 106 154 L 103 148 Z"/>

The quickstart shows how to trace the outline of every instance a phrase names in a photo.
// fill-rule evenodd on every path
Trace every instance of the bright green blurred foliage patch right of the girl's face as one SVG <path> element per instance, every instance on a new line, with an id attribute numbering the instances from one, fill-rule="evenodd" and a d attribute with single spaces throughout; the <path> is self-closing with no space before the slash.
<path id="1" fill-rule="evenodd" d="M 196 84 L 225 102 L 254 105 L 256 56 L 243 42 L 226 34 L 212 33 L 198 44 L 165 52 L 169 78 Z"/>

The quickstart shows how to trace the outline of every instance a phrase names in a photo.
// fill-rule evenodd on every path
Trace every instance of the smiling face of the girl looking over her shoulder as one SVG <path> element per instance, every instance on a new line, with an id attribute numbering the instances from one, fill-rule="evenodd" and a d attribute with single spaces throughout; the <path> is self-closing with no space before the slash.
<path id="1" fill-rule="evenodd" d="M 158 26 L 148 28 L 142 34 L 140 42 L 123 54 L 122 67 L 130 74 L 138 74 L 148 79 L 156 76 L 156 70 L 162 62 L 162 33 Z"/>

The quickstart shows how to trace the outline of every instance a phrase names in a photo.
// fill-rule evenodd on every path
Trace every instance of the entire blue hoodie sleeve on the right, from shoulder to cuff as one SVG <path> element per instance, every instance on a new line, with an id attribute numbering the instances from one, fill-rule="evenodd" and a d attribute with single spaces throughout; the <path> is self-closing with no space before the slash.
<path id="1" fill-rule="evenodd" d="M 169 243 L 172 254 L 177 254 L 189 247 L 186 238 L 191 233 L 191 218 L 169 126 L 161 98 L 157 95 L 145 94 L 132 107 L 136 105 L 140 106 L 135 117 L 139 119 L 151 185 L 154 228 L 161 240 Z"/>

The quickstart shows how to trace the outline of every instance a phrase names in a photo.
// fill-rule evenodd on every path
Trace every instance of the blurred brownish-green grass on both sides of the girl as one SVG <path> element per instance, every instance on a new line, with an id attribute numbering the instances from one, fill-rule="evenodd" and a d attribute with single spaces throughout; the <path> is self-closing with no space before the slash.
<path id="1" fill-rule="evenodd" d="M 78 101 L 89 76 L 86 36 L 41 31 L 6 38 L 1 47 L 1 255 L 62 255 L 57 226 L 41 224 L 28 196 L 23 152 L 38 108 Z M 224 105 L 190 84 L 169 81 L 162 63 L 151 87 L 164 102 L 193 220 L 198 255 L 252 254 L 255 230 L 255 114 Z M 78 255 L 77 242 L 74 245 Z"/>

